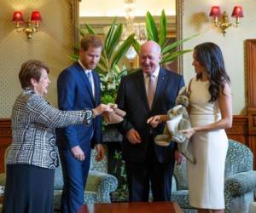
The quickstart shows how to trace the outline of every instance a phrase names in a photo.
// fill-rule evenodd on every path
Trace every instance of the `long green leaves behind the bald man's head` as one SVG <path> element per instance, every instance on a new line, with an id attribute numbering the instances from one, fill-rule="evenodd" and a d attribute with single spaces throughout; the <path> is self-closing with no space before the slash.
<path id="1" fill-rule="evenodd" d="M 166 14 L 165 11 L 162 10 L 160 16 L 160 27 L 158 29 L 157 24 L 154 20 L 152 14 L 147 12 L 146 14 L 146 28 L 147 28 L 147 40 L 154 41 L 160 45 L 161 54 L 163 55 L 162 60 L 160 61 L 161 64 L 169 64 L 172 61 L 177 60 L 178 55 L 183 55 L 185 53 L 191 52 L 191 49 L 185 49 L 177 51 L 177 47 L 189 41 L 191 38 L 197 36 L 193 35 L 191 37 L 187 37 L 183 40 L 176 41 L 174 43 L 168 43 L 167 37 L 167 22 L 166 22 Z M 132 45 L 134 49 L 139 53 L 140 51 L 140 43 L 138 43 L 135 39 L 132 41 Z"/>

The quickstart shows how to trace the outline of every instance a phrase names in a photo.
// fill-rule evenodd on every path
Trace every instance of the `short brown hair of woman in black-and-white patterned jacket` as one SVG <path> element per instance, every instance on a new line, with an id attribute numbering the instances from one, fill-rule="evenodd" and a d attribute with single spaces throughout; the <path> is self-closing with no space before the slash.
<path id="1" fill-rule="evenodd" d="M 40 60 L 27 60 L 21 65 L 19 79 L 22 89 L 26 87 L 32 88 L 31 79 L 34 78 L 39 82 L 42 69 L 45 69 L 49 73 L 49 67 Z"/>

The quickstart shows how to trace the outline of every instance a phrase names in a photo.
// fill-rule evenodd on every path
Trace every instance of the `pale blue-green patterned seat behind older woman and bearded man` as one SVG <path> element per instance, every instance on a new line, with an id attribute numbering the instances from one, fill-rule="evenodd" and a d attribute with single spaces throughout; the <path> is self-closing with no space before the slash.
<path id="1" fill-rule="evenodd" d="M 8 151 L 8 149 L 7 149 Z M 5 152 L 5 157 L 6 153 Z M 95 161 L 95 151 L 91 153 L 90 172 L 84 189 L 84 204 L 110 203 L 110 193 L 118 186 L 115 176 L 107 172 L 107 157 L 97 163 Z M 3 195 L 5 185 L 5 173 L 0 174 L 0 195 Z M 55 169 L 55 211 L 58 212 L 61 206 L 61 193 L 63 187 L 63 176 L 61 164 Z M 2 194 L 1 194 L 2 193 Z"/>

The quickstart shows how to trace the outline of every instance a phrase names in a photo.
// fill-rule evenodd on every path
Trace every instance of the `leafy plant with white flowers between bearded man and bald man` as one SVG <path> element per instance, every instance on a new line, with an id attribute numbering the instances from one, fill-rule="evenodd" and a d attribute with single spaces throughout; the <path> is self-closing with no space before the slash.
<path id="1" fill-rule="evenodd" d="M 96 32 L 87 24 L 85 24 L 85 29 L 79 27 L 79 32 L 83 37 L 87 33 L 96 35 Z M 134 34 L 127 37 L 125 41 L 121 41 L 122 34 L 123 25 L 117 24 L 116 19 L 114 19 L 107 36 L 104 38 L 102 55 L 95 69 L 101 78 L 102 103 L 115 101 L 120 79 L 128 72 L 125 66 L 119 67 L 119 60 L 134 43 Z M 71 55 L 71 57 L 73 60 L 79 59 L 78 55 Z"/>

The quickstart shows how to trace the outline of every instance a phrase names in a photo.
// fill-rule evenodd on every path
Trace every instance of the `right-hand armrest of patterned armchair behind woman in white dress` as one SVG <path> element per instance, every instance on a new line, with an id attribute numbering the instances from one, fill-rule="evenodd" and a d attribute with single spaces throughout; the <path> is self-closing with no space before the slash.
<path id="1" fill-rule="evenodd" d="M 224 191 L 236 197 L 251 192 L 256 187 L 256 171 L 237 173 L 225 178 Z"/>

